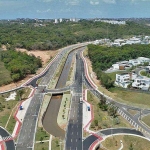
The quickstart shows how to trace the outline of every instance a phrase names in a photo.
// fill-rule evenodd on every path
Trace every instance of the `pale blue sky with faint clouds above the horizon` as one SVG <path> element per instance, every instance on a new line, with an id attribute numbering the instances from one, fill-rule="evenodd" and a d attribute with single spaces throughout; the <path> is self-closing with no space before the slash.
<path id="1" fill-rule="evenodd" d="M 150 18 L 150 0 L 0 0 L 0 19 Z"/>

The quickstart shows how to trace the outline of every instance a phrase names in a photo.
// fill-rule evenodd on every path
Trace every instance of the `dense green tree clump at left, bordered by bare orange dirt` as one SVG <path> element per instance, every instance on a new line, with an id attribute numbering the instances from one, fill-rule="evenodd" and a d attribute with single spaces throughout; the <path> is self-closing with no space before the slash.
<path id="1" fill-rule="evenodd" d="M 36 70 L 42 66 L 40 58 L 29 56 L 26 53 L 17 52 L 15 50 L 1 51 L 0 61 L 4 62 L 13 81 L 23 79 L 27 74 L 35 73 Z M 6 76 L 8 76 L 7 74 Z M 3 78 L 5 78 L 5 75 L 3 75 Z"/>

